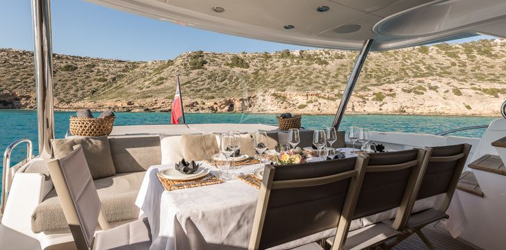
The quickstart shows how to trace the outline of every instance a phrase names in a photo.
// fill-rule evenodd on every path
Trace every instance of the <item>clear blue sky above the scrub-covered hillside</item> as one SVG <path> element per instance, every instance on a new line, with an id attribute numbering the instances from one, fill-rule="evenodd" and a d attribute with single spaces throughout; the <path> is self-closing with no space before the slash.
<path id="1" fill-rule="evenodd" d="M 33 51 L 30 4 L 29 0 L 0 1 L 0 47 Z M 202 31 L 81 0 L 52 0 L 51 22 L 54 53 L 74 56 L 167 60 L 185 51 L 196 50 L 262 52 L 311 49 Z"/>

